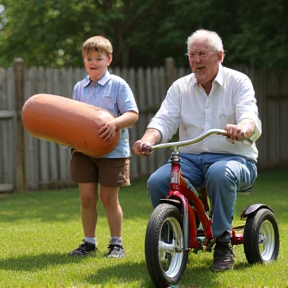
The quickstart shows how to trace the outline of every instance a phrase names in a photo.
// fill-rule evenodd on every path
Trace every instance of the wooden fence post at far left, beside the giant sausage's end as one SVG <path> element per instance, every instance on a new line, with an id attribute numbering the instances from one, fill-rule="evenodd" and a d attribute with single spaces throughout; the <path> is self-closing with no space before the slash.
<path id="1" fill-rule="evenodd" d="M 17 148 L 16 148 L 16 192 L 25 190 L 24 175 L 24 133 L 21 119 L 22 107 L 24 105 L 24 61 L 22 58 L 14 59 L 15 91 L 16 91 L 16 126 L 17 126 Z"/>

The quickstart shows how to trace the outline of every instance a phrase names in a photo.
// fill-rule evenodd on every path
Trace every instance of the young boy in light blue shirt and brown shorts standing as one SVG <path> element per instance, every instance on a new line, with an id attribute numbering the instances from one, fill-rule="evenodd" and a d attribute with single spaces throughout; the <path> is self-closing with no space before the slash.
<path id="1" fill-rule="evenodd" d="M 73 90 L 73 99 L 110 111 L 115 119 L 105 123 L 99 135 L 109 141 L 115 130 L 120 130 L 117 147 L 109 154 L 91 158 L 80 152 L 72 152 L 71 179 L 79 184 L 81 218 L 84 232 L 83 243 L 69 253 L 70 256 L 85 256 L 97 250 L 96 224 L 98 183 L 100 199 L 106 211 L 110 229 L 108 258 L 125 256 L 122 244 L 123 212 L 119 203 L 120 187 L 130 185 L 130 147 L 127 127 L 138 120 L 138 108 L 128 84 L 108 72 L 112 62 L 113 48 L 102 36 L 87 39 L 82 46 L 82 55 L 87 78 L 79 81 Z"/>

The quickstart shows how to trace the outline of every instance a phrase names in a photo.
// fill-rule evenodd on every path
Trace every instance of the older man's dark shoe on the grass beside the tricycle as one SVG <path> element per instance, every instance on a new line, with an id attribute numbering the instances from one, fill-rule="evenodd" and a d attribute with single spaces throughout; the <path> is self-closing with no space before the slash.
<path id="1" fill-rule="evenodd" d="M 225 235 L 226 236 L 226 235 Z M 234 265 L 234 254 L 230 239 L 226 237 L 216 239 L 214 248 L 214 260 L 211 270 L 220 272 L 230 270 Z"/>

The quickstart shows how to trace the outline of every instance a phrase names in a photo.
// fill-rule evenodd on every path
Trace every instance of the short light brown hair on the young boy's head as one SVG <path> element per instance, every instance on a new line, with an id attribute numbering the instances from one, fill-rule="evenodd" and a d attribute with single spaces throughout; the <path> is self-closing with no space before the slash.
<path id="1" fill-rule="evenodd" d="M 85 58 L 91 52 L 106 53 L 107 56 L 113 53 L 111 42 L 103 36 L 93 36 L 87 39 L 82 45 L 82 56 Z"/>

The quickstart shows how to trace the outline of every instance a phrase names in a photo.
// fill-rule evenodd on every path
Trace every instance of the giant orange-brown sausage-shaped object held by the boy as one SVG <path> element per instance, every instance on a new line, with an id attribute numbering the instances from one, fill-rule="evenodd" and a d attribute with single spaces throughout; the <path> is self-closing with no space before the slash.
<path id="1" fill-rule="evenodd" d="M 92 157 L 105 155 L 117 146 L 119 131 L 107 142 L 99 136 L 99 129 L 113 118 L 105 109 L 50 94 L 34 95 L 22 108 L 23 125 L 34 137 Z"/>

